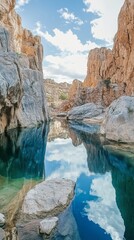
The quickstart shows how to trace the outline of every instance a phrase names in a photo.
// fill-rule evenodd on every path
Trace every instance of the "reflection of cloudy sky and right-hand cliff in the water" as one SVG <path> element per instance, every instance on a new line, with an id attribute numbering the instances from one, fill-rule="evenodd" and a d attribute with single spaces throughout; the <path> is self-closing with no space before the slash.
<path id="1" fill-rule="evenodd" d="M 76 181 L 72 211 L 82 240 L 132 240 L 133 165 L 125 152 L 113 153 L 94 128 L 83 130 L 73 123 L 68 139 L 48 143 L 46 176 Z"/>

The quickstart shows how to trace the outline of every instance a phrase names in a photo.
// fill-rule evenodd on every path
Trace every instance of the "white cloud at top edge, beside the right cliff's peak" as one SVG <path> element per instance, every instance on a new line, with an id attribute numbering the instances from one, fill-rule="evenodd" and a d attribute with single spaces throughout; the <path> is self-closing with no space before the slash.
<path id="1" fill-rule="evenodd" d="M 117 18 L 124 0 L 83 0 L 86 12 L 97 13 L 99 18 L 93 20 L 92 34 L 95 38 L 113 43 L 117 31 Z"/>

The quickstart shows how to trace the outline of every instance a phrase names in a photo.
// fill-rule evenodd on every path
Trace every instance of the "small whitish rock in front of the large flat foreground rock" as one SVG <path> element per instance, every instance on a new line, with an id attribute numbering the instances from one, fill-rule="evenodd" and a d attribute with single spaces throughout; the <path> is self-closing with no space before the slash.
<path id="1" fill-rule="evenodd" d="M 40 222 L 40 233 L 50 235 L 58 223 L 57 217 L 46 218 Z"/>

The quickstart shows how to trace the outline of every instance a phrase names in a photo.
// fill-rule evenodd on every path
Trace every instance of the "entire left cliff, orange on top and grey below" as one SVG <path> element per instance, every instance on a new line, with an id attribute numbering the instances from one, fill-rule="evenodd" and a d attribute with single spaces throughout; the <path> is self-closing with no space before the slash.
<path id="1" fill-rule="evenodd" d="M 0 3 L 0 133 L 47 120 L 40 38 L 22 28 L 14 0 Z"/>

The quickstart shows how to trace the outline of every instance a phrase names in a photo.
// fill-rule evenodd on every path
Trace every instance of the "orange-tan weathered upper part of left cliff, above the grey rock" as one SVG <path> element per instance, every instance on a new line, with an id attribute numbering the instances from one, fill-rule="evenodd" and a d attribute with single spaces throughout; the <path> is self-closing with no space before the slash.
<path id="1" fill-rule="evenodd" d="M 41 38 L 22 27 L 21 18 L 15 11 L 16 0 L 0 3 L 0 26 L 10 32 L 11 50 L 28 57 L 30 68 L 42 70 L 43 47 Z"/>

